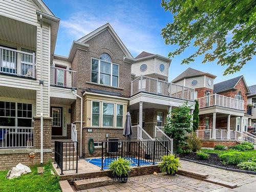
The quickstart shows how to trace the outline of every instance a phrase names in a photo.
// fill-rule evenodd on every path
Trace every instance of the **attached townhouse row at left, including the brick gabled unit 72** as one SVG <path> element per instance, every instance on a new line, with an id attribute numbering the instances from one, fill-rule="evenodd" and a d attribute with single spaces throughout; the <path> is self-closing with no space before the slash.
<path id="1" fill-rule="evenodd" d="M 55 140 L 97 156 L 108 147 L 100 141 L 127 139 L 127 111 L 139 140 L 163 134 L 167 113 L 185 101 L 193 113 L 194 88 L 167 81 L 169 58 L 134 58 L 110 24 L 73 41 L 68 56 L 54 55 L 59 22 L 42 1 L 0 2 L 0 169 L 46 163 Z"/>

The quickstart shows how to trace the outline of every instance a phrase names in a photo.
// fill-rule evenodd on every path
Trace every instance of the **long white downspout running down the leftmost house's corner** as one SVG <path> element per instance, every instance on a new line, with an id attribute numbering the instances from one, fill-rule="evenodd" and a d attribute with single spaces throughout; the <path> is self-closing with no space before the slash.
<path id="1" fill-rule="evenodd" d="M 42 114 L 42 86 L 44 81 L 42 80 L 42 15 L 40 14 L 40 163 L 44 162 L 44 132 L 43 132 L 43 114 Z"/>

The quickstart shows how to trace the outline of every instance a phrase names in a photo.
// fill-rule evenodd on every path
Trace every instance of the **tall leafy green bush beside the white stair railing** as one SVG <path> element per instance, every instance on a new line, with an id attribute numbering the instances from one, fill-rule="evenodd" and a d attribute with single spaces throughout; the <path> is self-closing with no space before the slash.
<path id="1" fill-rule="evenodd" d="M 181 145 L 184 145 L 188 137 L 185 132 L 191 133 L 190 106 L 184 103 L 179 108 L 173 109 L 164 124 L 164 132 L 167 136 L 174 139 L 174 150 L 177 153 Z"/>

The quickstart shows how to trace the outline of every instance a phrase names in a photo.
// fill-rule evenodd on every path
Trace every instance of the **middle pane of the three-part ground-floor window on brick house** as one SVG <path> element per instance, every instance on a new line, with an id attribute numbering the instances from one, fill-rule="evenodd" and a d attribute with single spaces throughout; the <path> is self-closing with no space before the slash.
<path id="1" fill-rule="evenodd" d="M 103 126 L 113 127 L 114 125 L 114 104 L 103 103 Z"/>

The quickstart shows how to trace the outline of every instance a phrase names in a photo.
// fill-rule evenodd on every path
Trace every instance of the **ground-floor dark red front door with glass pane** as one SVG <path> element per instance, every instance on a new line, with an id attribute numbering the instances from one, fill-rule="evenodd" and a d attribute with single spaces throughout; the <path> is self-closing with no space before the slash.
<path id="1" fill-rule="evenodd" d="M 52 136 L 62 136 L 62 108 L 51 106 Z"/>

